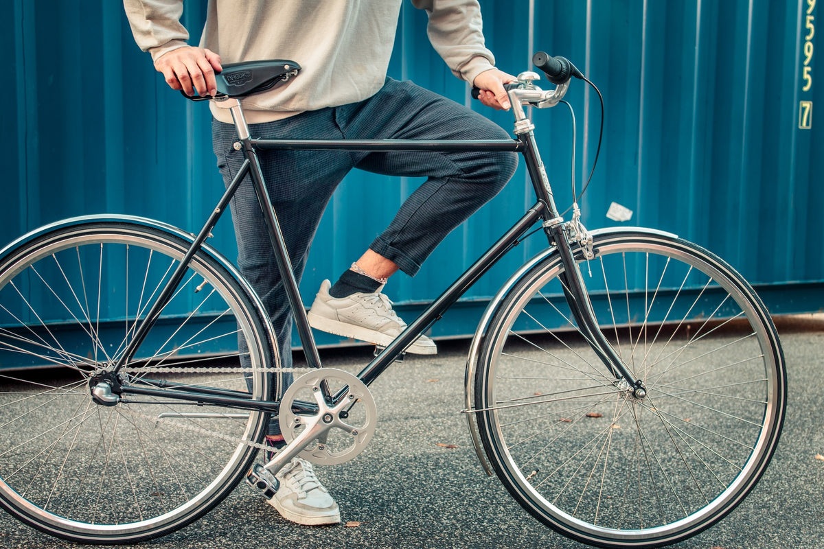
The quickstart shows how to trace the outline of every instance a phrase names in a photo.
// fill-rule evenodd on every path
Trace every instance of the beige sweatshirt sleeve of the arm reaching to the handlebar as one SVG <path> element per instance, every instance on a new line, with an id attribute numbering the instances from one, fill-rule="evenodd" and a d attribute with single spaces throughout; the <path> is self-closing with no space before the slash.
<path id="1" fill-rule="evenodd" d="M 494 68 L 495 58 L 484 44 L 477 0 L 412 0 L 429 17 L 427 34 L 433 48 L 456 77 L 472 82 Z"/>

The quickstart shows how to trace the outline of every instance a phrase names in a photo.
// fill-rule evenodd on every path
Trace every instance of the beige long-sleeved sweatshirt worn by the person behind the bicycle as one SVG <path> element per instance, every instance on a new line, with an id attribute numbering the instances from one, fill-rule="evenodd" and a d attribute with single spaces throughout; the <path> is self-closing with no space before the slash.
<path id="1" fill-rule="evenodd" d="M 367 99 L 383 85 L 401 0 L 208 0 L 200 45 L 222 63 L 289 59 L 302 67 L 287 86 L 243 100 L 249 123 Z M 412 0 L 426 10 L 429 41 L 456 77 L 474 81 L 494 65 L 477 0 Z M 124 0 L 134 40 L 157 59 L 187 44 L 183 0 Z M 225 109 L 218 120 L 231 123 Z"/>

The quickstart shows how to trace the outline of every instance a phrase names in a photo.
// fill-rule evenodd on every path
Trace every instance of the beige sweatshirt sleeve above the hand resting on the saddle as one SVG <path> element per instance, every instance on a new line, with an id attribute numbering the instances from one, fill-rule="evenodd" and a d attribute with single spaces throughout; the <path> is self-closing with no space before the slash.
<path id="1" fill-rule="evenodd" d="M 123 0 L 134 41 L 152 60 L 188 44 L 189 32 L 180 24 L 183 0 Z"/>

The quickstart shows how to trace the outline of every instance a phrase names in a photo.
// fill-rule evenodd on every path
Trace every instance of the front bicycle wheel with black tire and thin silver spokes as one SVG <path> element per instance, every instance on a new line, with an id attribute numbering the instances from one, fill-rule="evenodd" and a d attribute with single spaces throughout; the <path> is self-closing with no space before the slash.
<path id="1" fill-rule="evenodd" d="M 655 547 L 695 535 L 755 486 L 778 443 L 784 356 L 761 300 L 695 244 L 604 233 L 580 263 L 639 398 L 574 322 L 557 254 L 489 321 L 475 375 L 486 454 L 515 499 L 565 536 Z"/>

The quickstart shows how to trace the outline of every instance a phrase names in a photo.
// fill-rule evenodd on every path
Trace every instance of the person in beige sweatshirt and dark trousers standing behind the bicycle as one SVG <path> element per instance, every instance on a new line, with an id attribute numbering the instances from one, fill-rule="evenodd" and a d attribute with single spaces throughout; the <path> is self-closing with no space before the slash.
<path id="1" fill-rule="evenodd" d="M 289 59 L 297 78 L 242 100 L 252 135 L 260 138 L 505 139 L 484 116 L 452 100 L 386 77 L 402 0 L 209 0 L 199 46 L 180 23 L 183 0 L 124 0 L 138 46 L 152 55 L 172 89 L 213 95 L 222 63 Z M 456 77 L 480 88 L 480 101 L 509 109 L 503 84 L 515 78 L 494 66 L 485 47 L 477 0 L 412 0 L 428 14 L 427 34 Z M 225 109 L 212 107 L 213 149 L 228 184 L 243 161 Z M 313 328 L 386 345 L 405 327 L 381 293 L 398 270 L 414 276 L 446 235 L 499 193 L 517 157 L 509 152 L 262 151 L 262 170 L 300 281 L 311 240 L 335 187 L 358 168 L 377 174 L 426 176 L 391 224 L 335 284 L 324 281 L 308 314 Z M 365 204 L 364 207 L 375 207 Z M 232 200 L 241 273 L 260 295 L 277 333 L 282 365 L 292 364 L 292 316 L 251 185 Z M 407 352 L 433 354 L 421 336 Z M 241 349 L 242 356 L 242 349 Z M 283 445 L 276 422 L 266 440 Z M 338 523 L 339 508 L 296 458 L 277 477 L 269 501 L 285 519 Z"/>

